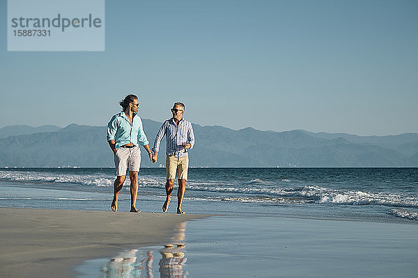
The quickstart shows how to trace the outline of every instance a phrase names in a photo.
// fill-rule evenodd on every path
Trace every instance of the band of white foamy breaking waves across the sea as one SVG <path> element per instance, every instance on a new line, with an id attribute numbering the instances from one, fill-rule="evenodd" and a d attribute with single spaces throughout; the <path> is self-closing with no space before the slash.
<path id="1" fill-rule="evenodd" d="M 0 171 L 0 180 L 35 183 L 71 183 L 89 187 L 113 187 L 114 175 L 105 173 L 57 173 L 30 171 Z M 262 179 L 247 182 L 212 181 L 194 179 L 187 182 L 187 190 L 205 199 L 214 198 L 226 202 L 254 202 L 265 204 L 336 204 L 336 205 L 379 205 L 418 208 L 417 195 L 375 193 L 366 190 L 336 190 L 320 186 L 293 186 L 288 179 L 272 184 Z M 125 181 L 126 183 L 126 181 Z M 143 175 L 139 177 L 141 188 L 164 188 L 164 177 Z M 289 185 L 287 187 L 287 185 Z M 201 191 L 201 193 L 197 192 Z M 216 195 L 211 196 L 208 193 Z M 399 213 L 399 212 L 394 212 Z M 394 214 L 391 213 L 391 214 Z M 413 214 L 413 213 L 412 213 Z"/>

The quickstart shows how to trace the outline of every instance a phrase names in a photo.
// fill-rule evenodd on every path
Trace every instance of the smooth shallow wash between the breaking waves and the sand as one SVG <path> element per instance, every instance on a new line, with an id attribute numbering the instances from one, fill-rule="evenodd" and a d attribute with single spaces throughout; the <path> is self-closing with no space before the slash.
<path id="1" fill-rule="evenodd" d="M 78 187 L 77 187 L 78 186 Z M 109 203 L 112 200 L 112 194 L 110 187 L 95 187 L 86 188 L 80 187 L 77 182 L 75 183 L 52 183 L 45 181 L 1 181 L 0 188 L 2 196 L 0 196 L 0 208 L 31 208 L 31 209 L 53 209 L 63 211 L 107 211 L 109 209 Z M 110 189 L 109 189 L 110 188 Z M 130 209 L 130 195 L 129 186 L 124 186 L 125 190 L 121 191 L 120 211 L 129 211 Z M 95 191 L 93 191 L 95 190 Z M 156 208 L 160 209 L 160 204 L 164 202 L 164 194 L 160 188 L 140 188 L 139 202 L 140 207 L 148 213 L 154 214 Z M 160 190 L 160 191 L 158 191 Z M 208 195 L 211 192 L 208 191 Z M 267 210 L 247 210 L 247 203 L 245 202 L 231 202 L 229 208 L 224 211 L 217 211 L 216 209 L 207 209 L 202 206 L 201 197 L 194 199 L 193 192 L 189 192 L 185 196 L 187 202 L 187 211 L 192 211 L 193 215 L 214 215 L 214 216 L 238 216 L 238 217 L 279 217 L 279 218 L 298 218 L 298 219 L 318 219 L 318 220 L 343 220 L 343 221 L 363 221 L 363 222 L 394 222 L 394 223 L 409 223 L 418 224 L 418 211 L 415 207 L 408 206 L 382 206 L 383 211 L 373 211 L 371 213 L 363 212 L 362 208 L 368 205 L 348 205 L 350 211 L 339 211 L 339 213 L 330 213 L 332 206 L 336 206 L 336 209 L 340 209 L 344 204 L 315 204 L 312 209 L 302 211 L 302 206 L 296 204 L 293 206 L 291 203 L 284 203 L 284 206 L 277 204 L 279 211 L 267 211 Z M 212 201 L 206 199 L 205 201 Z M 228 202 L 224 202 L 227 204 Z M 222 205 L 224 205 L 222 204 Z M 241 209 L 235 209 L 240 206 Z M 378 207 L 376 205 L 371 205 Z M 273 206 L 270 206 L 273 207 Z M 171 207 L 170 213 L 175 213 L 175 206 Z M 203 209 L 202 209 L 203 208 Z M 265 207 L 264 207 L 265 208 Z M 263 208 L 263 209 L 264 209 Z M 318 210 L 318 208 L 320 208 Z M 293 209 L 293 211 L 292 211 Z"/>

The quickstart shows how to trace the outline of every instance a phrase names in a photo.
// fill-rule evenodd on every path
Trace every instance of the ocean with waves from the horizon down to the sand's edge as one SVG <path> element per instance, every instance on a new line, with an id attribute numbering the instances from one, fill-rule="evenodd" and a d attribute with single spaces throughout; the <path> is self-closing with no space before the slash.
<path id="1" fill-rule="evenodd" d="M 0 206 L 109 211 L 112 168 L 0 169 Z M 137 206 L 161 212 L 165 169 L 139 173 Z M 169 212 L 176 212 L 176 184 Z M 129 181 L 119 209 L 128 211 Z M 190 168 L 183 210 L 352 220 L 418 220 L 418 168 Z M 397 218 L 397 219 L 396 219 Z"/>

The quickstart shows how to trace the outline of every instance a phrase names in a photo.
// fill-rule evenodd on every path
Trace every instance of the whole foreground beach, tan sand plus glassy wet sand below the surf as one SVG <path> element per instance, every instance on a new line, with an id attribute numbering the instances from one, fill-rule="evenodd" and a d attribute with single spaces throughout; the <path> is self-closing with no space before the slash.
<path id="1" fill-rule="evenodd" d="M 417 224 L 0 208 L 1 277 L 415 277 Z M 196 221 L 189 221 L 196 220 Z M 122 276 L 121 276 L 122 275 Z"/>

